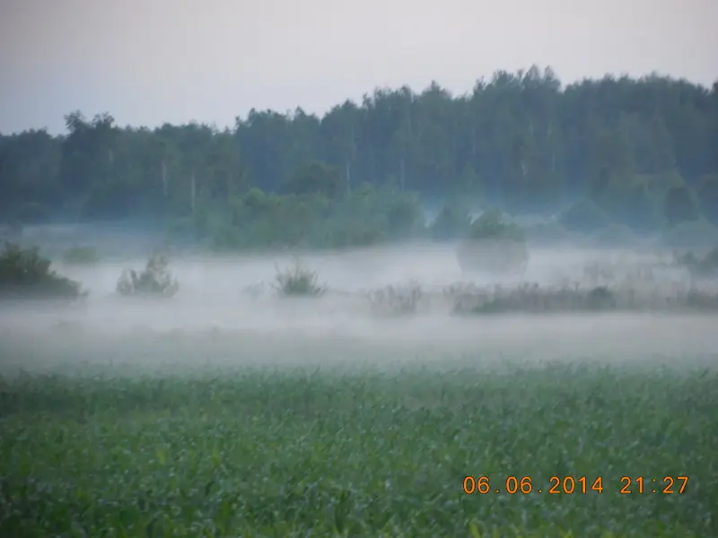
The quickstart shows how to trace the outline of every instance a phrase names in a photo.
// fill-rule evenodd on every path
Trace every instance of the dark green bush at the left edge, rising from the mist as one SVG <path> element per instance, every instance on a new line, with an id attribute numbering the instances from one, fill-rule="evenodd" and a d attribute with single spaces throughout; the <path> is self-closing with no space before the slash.
<path id="1" fill-rule="evenodd" d="M 79 282 L 50 269 L 39 248 L 5 243 L 0 253 L 0 295 L 3 299 L 79 299 L 87 295 Z"/>

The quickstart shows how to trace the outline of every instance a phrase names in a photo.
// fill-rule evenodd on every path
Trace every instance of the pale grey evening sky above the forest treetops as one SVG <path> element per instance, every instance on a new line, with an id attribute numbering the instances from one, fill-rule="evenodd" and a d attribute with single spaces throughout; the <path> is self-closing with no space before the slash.
<path id="1" fill-rule="evenodd" d="M 0 0 L 0 133 L 233 126 L 377 87 L 454 94 L 495 71 L 718 80 L 718 0 Z"/>

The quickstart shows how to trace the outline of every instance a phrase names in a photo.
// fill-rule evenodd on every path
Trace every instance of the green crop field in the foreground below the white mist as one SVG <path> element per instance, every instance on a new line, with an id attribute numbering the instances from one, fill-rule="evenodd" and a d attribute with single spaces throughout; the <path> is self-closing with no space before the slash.
<path id="1" fill-rule="evenodd" d="M 462 364 L 6 378 L 0 535 L 718 535 L 714 370 Z"/>

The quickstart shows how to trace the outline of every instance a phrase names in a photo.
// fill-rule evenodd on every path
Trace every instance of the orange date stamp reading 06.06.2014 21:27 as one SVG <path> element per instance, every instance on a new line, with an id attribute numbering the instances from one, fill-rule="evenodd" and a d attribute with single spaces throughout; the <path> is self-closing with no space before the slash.
<path id="1" fill-rule="evenodd" d="M 604 488 L 604 482 L 608 487 Z M 488 476 L 465 476 L 462 484 L 467 495 L 487 495 L 508 493 L 509 495 L 529 495 L 547 493 L 549 495 L 602 494 L 604 491 L 621 495 L 658 493 L 663 495 L 686 492 L 687 476 L 664 476 L 651 478 L 644 476 L 622 476 L 620 481 L 604 481 L 602 476 L 551 476 L 547 481 L 534 481 L 530 476 L 512 476 L 492 480 Z"/>

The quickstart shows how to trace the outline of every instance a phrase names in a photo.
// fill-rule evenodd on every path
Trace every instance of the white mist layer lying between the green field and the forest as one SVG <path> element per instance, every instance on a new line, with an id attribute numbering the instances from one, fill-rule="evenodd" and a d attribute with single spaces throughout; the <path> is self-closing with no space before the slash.
<path id="1" fill-rule="evenodd" d="M 69 234 L 72 235 L 72 234 Z M 76 239 L 76 238 L 74 238 Z M 74 240 L 73 239 L 73 240 Z M 87 239 L 87 238 L 84 238 Z M 105 238 L 107 239 L 107 238 Z M 126 250 L 127 234 L 97 245 Z M 144 242 L 143 242 L 144 241 Z M 697 314 L 573 314 L 455 317 L 442 290 L 457 282 L 518 284 L 462 274 L 455 246 L 405 245 L 303 253 L 328 292 L 320 298 L 278 297 L 278 269 L 293 264 L 274 256 L 171 256 L 180 282 L 171 299 L 127 299 L 115 292 L 123 269 L 142 269 L 151 253 L 146 236 L 124 259 L 97 265 L 54 264 L 90 290 L 72 307 L 14 304 L 0 310 L 0 360 L 5 367 L 67 364 L 357 364 L 451 357 L 482 360 L 681 360 L 718 362 L 718 317 Z M 140 252 L 144 251 L 144 254 Z M 630 250 L 532 248 L 521 282 L 581 282 L 590 263 L 652 265 L 661 286 L 687 276 L 661 270 L 661 256 Z M 413 282 L 424 298 L 416 314 L 381 317 L 367 292 Z"/>

